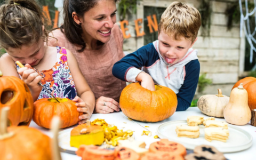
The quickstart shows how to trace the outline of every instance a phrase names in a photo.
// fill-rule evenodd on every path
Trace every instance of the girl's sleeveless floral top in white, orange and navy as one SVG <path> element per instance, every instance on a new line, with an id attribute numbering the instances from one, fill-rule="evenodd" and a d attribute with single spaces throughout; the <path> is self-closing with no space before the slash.
<path id="1" fill-rule="evenodd" d="M 20 69 L 16 65 L 17 70 Z M 63 47 L 57 46 L 57 62 L 49 70 L 38 70 L 36 72 L 42 76 L 41 83 L 55 97 L 74 99 L 77 95 L 73 77 L 68 67 L 67 51 Z M 44 89 L 39 94 L 38 99 L 52 98 Z"/>

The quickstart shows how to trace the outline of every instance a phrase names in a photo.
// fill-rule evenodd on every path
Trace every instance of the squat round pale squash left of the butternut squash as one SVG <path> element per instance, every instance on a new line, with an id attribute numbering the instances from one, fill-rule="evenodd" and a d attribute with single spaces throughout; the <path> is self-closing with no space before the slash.
<path id="1" fill-rule="evenodd" d="M 203 114 L 212 117 L 223 118 L 224 108 L 229 102 L 229 97 L 222 95 L 221 89 L 218 89 L 219 94 L 207 94 L 203 95 L 197 101 L 198 108 Z"/>

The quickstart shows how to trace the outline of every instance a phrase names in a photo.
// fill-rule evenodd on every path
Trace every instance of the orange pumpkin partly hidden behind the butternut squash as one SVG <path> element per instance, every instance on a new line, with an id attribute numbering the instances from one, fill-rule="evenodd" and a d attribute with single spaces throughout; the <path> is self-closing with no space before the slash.
<path id="1" fill-rule="evenodd" d="M 243 83 L 244 89 L 248 92 L 248 105 L 251 110 L 256 109 L 256 78 L 246 77 L 238 81 L 234 86 L 238 87 L 240 83 Z M 233 90 L 232 89 L 232 90 Z"/>

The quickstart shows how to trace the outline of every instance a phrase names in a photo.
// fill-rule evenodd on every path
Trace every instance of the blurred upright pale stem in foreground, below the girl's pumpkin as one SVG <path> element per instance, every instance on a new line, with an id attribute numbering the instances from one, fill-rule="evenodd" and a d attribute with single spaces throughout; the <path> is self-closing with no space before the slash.
<path id="1" fill-rule="evenodd" d="M 58 141 L 59 127 L 60 127 L 60 118 L 55 116 L 52 118 L 52 123 L 51 123 L 51 132 L 53 133 L 51 150 L 53 151 L 52 159 L 54 160 L 61 160 L 59 141 Z"/>

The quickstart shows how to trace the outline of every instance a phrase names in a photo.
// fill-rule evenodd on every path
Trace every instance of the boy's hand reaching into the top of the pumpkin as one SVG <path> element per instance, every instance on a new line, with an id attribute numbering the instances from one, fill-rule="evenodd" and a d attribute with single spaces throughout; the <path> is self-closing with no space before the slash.
<path id="1" fill-rule="evenodd" d="M 148 89 L 150 91 L 156 90 L 152 77 L 145 72 L 139 73 L 138 76 L 136 77 L 136 81 L 141 82 L 141 86 L 145 89 Z"/>

